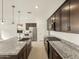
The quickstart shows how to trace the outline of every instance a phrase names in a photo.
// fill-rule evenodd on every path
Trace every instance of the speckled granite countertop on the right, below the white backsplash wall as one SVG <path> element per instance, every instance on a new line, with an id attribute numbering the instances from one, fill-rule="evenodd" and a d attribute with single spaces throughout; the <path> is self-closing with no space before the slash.
<path id="1" fill-rule="evenodd" d="M 63 59 L 79 59 L 79 51 L 66 41 L 49 41 Z"/>

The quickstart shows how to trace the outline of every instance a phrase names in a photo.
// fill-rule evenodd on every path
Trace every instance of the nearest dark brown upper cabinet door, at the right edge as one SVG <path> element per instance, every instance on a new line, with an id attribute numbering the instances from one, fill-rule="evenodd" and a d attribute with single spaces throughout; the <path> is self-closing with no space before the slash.
<path id="1" fill-rule="evenodd" d="M 71 0 L 70 25 L 71 32 L 79 33 L 79 0 Z"/>

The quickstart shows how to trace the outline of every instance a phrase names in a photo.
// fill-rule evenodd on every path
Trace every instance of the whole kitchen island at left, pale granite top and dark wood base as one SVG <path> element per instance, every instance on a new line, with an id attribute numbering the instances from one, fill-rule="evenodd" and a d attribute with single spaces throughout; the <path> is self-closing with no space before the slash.
<path id="1" fill-rule="evenodd" d="M 31 40 L 19 41 L 17 37 L 0 41 L 0 59 L 27 59 Z"/>

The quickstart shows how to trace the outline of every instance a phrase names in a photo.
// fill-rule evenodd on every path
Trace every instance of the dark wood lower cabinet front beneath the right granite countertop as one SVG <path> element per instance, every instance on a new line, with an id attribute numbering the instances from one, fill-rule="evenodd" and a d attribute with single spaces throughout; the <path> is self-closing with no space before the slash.
<path id="1" fill-rule="evenodd" d="M 62 59 L 56 50 L 49 44 L 49 59 Z"/>

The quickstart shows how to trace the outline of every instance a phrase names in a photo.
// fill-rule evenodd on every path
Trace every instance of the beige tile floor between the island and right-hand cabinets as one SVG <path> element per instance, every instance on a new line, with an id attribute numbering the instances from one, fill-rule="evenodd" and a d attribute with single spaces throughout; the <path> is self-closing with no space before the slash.
<path id="1" fill-rule="evenodd" d="M 43 42 L 32 42 L 28 59 L 48 59 Z"/>

